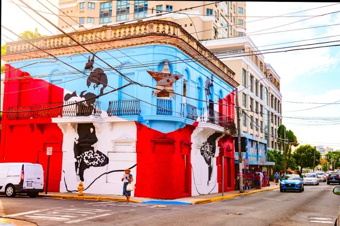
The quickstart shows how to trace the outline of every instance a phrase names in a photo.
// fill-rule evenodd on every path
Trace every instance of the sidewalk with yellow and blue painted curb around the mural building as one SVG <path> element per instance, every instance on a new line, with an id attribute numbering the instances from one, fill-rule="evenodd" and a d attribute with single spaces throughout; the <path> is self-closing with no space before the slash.
<path id="1" fill-rule="evenodd" d="M 141 197 L 131 197 L 130 202 L 134 203 L 149 203 L 149 204 L 175 204 L 175 205 L 190 205 L 190 204 L 203 204 L 209 202 L 221 201 L 224 199 L 255 194 L 259 192 L 272 191 L 279 189 L 279 185 L 275 185 L 275 182 L 270 182 L 271 186 L 264 187 L 262 189 L 250 189 L 245 193 L 239 193 L 239 191 L 230 191 L 214 194 L 203 194 L 199 196 L 192 196 L 186 198 L 177 198 L 171 200 L 164 199 L 152 199 L 152 198 L 141 198 Z M 83 196 L 78 196 L 77 193 L 40 193 L 38 197 L 42 198 L 52 198 L 52 199 L 75 199 L 75 200 L 93 200 L 93 201 L 118 201 L 125 202 L 126 198 L 122 195 L 110 195 L 110 194 L 84 194 Z"/>

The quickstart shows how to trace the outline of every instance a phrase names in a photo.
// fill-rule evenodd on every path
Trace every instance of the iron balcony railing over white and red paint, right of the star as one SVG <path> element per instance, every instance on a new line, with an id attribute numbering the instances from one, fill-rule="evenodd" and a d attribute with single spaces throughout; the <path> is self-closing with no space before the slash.
<path id="1" fill-rule="evenodd" d="M 212 123 L 223 128 L 236 131 L 236 126 L 233 118 L 221 114 L 219 112 L 216 112 L 212 109 L 199 108 L 199 112 L 200 112 L 199 120 L 201 122 Z"/>

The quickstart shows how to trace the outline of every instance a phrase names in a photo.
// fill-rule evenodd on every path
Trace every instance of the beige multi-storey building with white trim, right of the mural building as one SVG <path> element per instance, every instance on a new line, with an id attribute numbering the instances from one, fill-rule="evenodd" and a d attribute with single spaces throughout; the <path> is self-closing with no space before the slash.
<path id="1" fill-rule="evenodd" d="M 267 140 L 278 149 L 277 129 L 282 122 L 280 76 L 258 51 L 249 36 L 209 40 L 205 47 L 235 73 L 241 115 L 241 131 Z M 255 54 L 256 53 L 256 54 Z"/>

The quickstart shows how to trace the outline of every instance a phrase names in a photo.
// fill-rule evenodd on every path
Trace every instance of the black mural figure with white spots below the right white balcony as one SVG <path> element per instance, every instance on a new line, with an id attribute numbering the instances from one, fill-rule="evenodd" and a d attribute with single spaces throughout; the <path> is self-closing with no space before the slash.
<path id="1" fill-rule="evenodd" d="M 214 133 L 206 139 L 201 147 L 201 155 L 204 158 L 205 163 L 208 165 L 208 182 L 207 185 L 209 186 L 211 176 L 212 176 L 212 159 L 216 153 L 216 139 L 220 137 L 222 133 Z"/>

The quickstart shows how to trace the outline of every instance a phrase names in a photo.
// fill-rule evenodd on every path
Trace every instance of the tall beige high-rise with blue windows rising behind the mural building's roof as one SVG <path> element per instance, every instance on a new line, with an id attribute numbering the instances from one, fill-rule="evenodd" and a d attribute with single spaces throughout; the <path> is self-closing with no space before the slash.
<path id="1" fill-rule="evenodd" d="M 160 19 L 179 24 L 199 40 L 226 38 L 245 35 L 245 6 L 245 1 L 59 0 L 59 14 L 72 19 L 60 16 L 58 26 L 73 32 Z"/>

